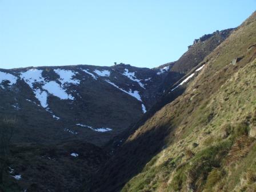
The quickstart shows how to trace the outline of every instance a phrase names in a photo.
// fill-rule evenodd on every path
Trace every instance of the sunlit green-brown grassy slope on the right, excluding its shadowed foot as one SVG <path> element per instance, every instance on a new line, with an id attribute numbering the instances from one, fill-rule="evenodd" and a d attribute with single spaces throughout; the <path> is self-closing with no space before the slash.
<path id="1" fill-rule="evenodd" d="M 248 49 L 256 42 L 255 17 L 207 57 L 182 97 L 159 111 L 177 126 L 175 137 L 166 137 L 168 147 L 122 191 L 256 190 L 256 47 Z"/>

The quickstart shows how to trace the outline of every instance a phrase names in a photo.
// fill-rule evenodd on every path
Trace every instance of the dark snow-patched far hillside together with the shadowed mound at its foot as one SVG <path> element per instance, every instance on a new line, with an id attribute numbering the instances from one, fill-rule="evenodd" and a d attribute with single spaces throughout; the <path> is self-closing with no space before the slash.
<path id="1" fill-rule="evenodd" d="M 0 122 L 16 122 L 0 191 L 81 189 L 108 158 L 95 145 L 137 121 L 166 75 L 123 64 L 0 70 Z"/>

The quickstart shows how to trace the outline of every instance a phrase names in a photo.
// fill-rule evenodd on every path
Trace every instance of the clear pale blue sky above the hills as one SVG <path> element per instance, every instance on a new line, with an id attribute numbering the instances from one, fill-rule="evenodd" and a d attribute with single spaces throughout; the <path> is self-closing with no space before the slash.
<path id="1" fill-rule="evenodd" d="M 237 27 L 256 0 L 0 0 L 0 68 L 155 67 L 195 38 Z"/>

